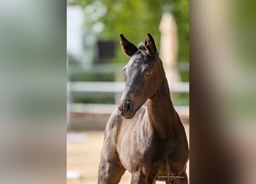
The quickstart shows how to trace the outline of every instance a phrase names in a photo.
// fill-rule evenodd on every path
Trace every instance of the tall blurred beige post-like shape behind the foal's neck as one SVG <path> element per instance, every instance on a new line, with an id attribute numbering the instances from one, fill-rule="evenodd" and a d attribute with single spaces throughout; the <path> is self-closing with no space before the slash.
<path id="1" fill-rule="evenodd" d="M 181 82 L 181 76 L 177 68 L 178 36 L 177 25 L 170 13 L 163 13 L 159 24 L 161 32 L 160 53 L 165 68 L 166 78 L 169 84 Z"/>

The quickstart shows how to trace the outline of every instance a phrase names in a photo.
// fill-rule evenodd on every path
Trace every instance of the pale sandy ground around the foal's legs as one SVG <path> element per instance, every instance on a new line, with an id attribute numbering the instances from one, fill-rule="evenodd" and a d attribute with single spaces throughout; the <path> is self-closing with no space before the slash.
<path id="1" fill-rule="evenodd" d="M 189 124 L 184 125 L 189 141 Z M 103 131 L 69 132 L 82 133 L 85 136 L 81 142 L 67 141 L 67 171 L 78 171 L 79 179 L 67 179 L 68 184 L 92 184 L 97 183 L 98 164 L 104 139 Z M 189 163 L 187 166 L 189 176 Z M 131 174 L 127 171 L 123 175 L 120 184 L 130 183 Z M 163 183 L 163 182 L 156 182 Z"/>

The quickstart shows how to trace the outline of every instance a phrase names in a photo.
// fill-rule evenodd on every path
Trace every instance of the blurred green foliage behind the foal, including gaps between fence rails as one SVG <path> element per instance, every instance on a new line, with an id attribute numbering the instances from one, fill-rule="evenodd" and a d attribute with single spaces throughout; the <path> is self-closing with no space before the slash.
<path id="1" fill-rule="evenodd" d="M 93 47 L 89 43 L 91 37 L 99 40 L 114 41 L 115 57 L 102 61 L 104 63 L 127 63 L 126 57 L 119 46 L 119 35 L 125 37 L 137 45 L 146 39 L 147 33 L 151 33 L 156 46 L 160 48 L 159 22 L 162 14 L 173 14 L 178 28 L 178 62 L 189 62 L 189 1 L 188 0 L 68 0 L 68 5 L 79 5 L 84 10 L 83 23 L 84 49 Z M 100 28 L 100 29 L 98 29 Z M 94 63 L 98 61 L 94 58 Z M 74 64 L 71 62 L 70 64 Z M 79 62 L 77 62 L 79 63 Z M 121 71 L 120 71 L 121 72 Z M 104 79 L 98 74 L 73 75 L 71 81 L 114 81 L 114 77 L 104 74 Z M 189 81 L 189 71 L 181 72 L 182 81 Z M 175 99 L 181 99 L 179 105 L 189 104 L 189 94 L 175 94 Z M 83 98 L 77 99 L 85 102 Z M 94 99 L 90 99 L 95 101 Z"/>

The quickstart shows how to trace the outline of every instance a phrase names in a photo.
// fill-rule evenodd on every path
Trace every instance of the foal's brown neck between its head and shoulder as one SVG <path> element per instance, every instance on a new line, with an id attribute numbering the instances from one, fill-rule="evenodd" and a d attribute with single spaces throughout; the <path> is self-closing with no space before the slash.
<path id="1" fill-rule="evenodd" d="M 171 102 L 170 90 L 163 68 L 158 91 L 147 100 L 147 112 L 150 124 L 162 139 L 167 139 L 176 127 L 177 113 Z"/>

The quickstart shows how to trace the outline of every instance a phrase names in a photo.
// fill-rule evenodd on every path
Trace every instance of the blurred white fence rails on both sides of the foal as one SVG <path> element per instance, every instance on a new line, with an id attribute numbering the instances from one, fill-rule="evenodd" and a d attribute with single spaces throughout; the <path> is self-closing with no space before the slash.
<path id="1" fill-rule="evenodd" d="M 97 64 L 91 67 L 83 68 L 68 67 L 68 74 L 107 74 L 113 73 L 117 78 L 120 77 L 120 71 L 123 66 L 117 64 Z M 188 71 L 189 64 L 179 63 L 179 71 Z M 117 108 L 117 101 L 125 88 L 125 82 L 68 82 L 67 83 L 67 111 L 73 113 L 99 113 L 110 114 Z M 170 93 L 189 93 L 189 82 L 179 82 L 169 84 Z M 115 97 L 115 104 L 79 104 L 72 102 L 72 98 L 79 97 Z M 189 106 L 175 106 L 181 117 L 189 118 Z M 74 121 L 74 120 L 73 120 Z M 86 122 L 85 119 L 81 122 Z M 91 120 L 90 120 L 91 122 Z M 68 126 L 70 120 L 68 120 Z M 93 125 L 91 125 L 93 126 Z"/>

